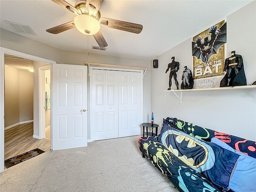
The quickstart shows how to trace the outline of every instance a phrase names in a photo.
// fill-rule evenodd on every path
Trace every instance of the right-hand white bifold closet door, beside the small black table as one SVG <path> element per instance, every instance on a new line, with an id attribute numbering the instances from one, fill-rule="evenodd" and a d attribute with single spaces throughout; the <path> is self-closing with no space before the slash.
<path id="1" fill-rule="evenodd" d="M 119 72 L 118 130 L 119 137 L 141 134 L 141 73 Z"/>

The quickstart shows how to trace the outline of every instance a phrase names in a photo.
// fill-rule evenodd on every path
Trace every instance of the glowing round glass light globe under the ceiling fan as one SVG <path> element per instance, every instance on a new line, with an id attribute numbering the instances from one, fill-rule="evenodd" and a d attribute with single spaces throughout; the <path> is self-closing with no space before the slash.
<path id="1" fill-rule="evenodd" d="M 83 34 L 94 35 L 100 30 L 98 20 L 89 15 L 78 15 L 74 18 L 76 28 Z"/>

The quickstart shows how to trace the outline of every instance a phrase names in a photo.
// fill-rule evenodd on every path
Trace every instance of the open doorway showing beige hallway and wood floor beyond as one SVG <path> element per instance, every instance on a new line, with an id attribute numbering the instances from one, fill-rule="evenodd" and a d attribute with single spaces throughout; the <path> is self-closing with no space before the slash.
<path id="1" fill-rule="evenodd" d="M 51 149 L 50 65 L 37 62 L 34 64 L 33 60 L 10 54 L 5 54 L 4 57 L 4 160 L 36 148 L 45 152 L 49 151 Z M 44 67 L 38 68 L 38 66 Z M 34 86 L 34 82 L 37 82 L 37 74 L 34 74 L 34 70 L 40 72 L 41 68 L 43 68 L 43 75 L 42 77 L 39 75 L 38 79 L 43 79 L 39 80 L 38 90 L 44 95 L 38 97 L 35 93 L 37 85 Z M 48 102 L 46 102 L 46 96 L 48 96 Z M 39 107 L 39 111 L 34 112 L 38 99 L 39 104 L 44 105 L 44 110 Z M 36 124 L 34 125 L 34 117 L 38 113 L 44 114 L 39 116 L 39 122 L 44 123 L 39 124 L 37 128 Z M 39 129 L 39 134 L 37 134 L 37 129 Z"/>

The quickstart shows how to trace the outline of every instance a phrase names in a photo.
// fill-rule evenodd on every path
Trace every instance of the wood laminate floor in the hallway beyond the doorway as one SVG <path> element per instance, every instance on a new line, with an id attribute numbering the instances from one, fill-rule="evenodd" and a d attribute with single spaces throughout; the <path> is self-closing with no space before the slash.
<path id="1" fill-rule="evenodd" d="M 45 139 L 33 138 L 33 122 L 4 131 L 4 160 L 35 148 L 45 152 L 51 149 L 50 128 L 46 130 Z"/>

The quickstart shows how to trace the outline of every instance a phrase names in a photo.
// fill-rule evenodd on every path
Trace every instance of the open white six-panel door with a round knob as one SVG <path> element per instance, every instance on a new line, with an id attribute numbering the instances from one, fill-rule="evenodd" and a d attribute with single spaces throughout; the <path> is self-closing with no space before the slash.
<path id="1" fill-rule="evenodd" d="M 52 65 L 52 149 L 87 146 L 87 67 Z"/>

